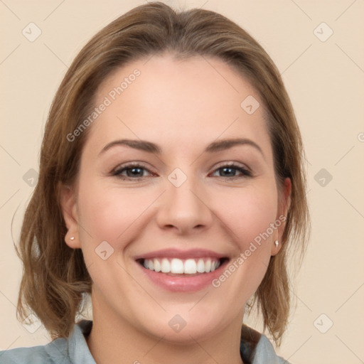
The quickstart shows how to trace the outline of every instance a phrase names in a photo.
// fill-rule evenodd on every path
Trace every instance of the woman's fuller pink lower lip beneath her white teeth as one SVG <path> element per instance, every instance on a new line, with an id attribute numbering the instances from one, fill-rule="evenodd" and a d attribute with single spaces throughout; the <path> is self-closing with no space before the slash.
<path id="1" fill-rule="evenodd" d="M 201 273 L 193 277 L 188 277 L 188 275 L 181 275 L 181 277 L 170 276 L 166 273 L 155 272 L 151 269 L 144 268 L 141 264 L 137 263 L 141 270 L 146 274 L 146 276 L 154 282 L 159 287 L 162 287 L 168 291 L 175 292 L 193 292 L 200 291 L 205 287 L 208 287 L 213 279 L 216 279 L 220 276 L 223 271 L 223 267 L 227 264 L 227 262 L 223 262 L 223 264 L 210 273 Z"/>

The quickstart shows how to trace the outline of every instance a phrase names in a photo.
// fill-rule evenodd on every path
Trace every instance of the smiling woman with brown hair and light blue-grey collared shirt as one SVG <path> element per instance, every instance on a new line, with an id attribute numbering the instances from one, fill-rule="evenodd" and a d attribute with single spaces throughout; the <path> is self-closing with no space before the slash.
<path id="1" fill-rule="evenodd" d="M 139 6 L 61 83 L 26 210 L 18 314 L 55 338 L 1 363 L 287 363 L 303 147 L 262 47 L 212 11 Z M 92 321 L 75 320 L 87 295 Z"/>

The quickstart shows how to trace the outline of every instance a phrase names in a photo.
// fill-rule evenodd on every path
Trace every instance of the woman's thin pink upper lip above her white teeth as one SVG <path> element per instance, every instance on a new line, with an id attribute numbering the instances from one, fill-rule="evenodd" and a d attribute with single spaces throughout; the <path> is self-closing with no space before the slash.
<path id="1" fill-rule="evenodd" d="M 180 250 L 180 249 L 162 249 L 155 250 L 154 252 L 147 252 L 145 254 L 137 255 L 134 257 L 137 259 L 151 259 L 151 258 L 179 258 L 179 259 L 188 259 L 188 258 L 202 258 L 202 257 L 214 257 L 218 259 L 226 258 L 227 255 L 220 254 L 218 252 L 213 252 L 212 250 L 207 249 L 189 249 L 189 250 Z"/>

